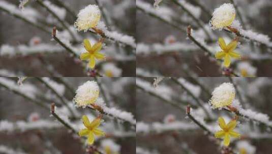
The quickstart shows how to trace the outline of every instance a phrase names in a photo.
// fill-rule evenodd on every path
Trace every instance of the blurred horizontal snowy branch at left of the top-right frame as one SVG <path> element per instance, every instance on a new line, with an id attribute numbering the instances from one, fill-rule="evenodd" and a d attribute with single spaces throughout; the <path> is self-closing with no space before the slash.
<path id="1" fill-rule="evenodd" d="M 137 54 L 151 54 L 151 53 L 156 53 L 156 54 L 164 54 L 167 52 L 189 52 L 192 50 L 197 50 L 198 48 L 195 45 L 192 44 L 187 44 L 187 43 L 172 43 L 169 45 L 162 45 L 159 43 L 155 43 L 153 45 L 146 45 L 143 43 L 137 44 L 137 49 L 136 53 Z"/>

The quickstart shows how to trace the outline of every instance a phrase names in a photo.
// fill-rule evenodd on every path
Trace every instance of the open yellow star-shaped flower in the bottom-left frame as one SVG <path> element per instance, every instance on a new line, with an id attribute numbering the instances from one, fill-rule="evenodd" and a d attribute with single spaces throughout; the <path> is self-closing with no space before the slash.
<path id="1" fill-rule="evenodd" d="M 98 129 L 100 123 L 101 123 L 101 118 L 98 117 L 96 118 L 92 123 L 89 122 L 89 119 L 86 115 L 82 116 L 82 122 L 84 126 L 86 127 L 85 129 L 82 129 L 78 132 L 78 135 L 81 136 L 87 136 L 87 142 L 88 144 L 93 144 L 95 141 L 95 135 L 96 136 L 102 136 L 105 135 L 105 133 Z"/>

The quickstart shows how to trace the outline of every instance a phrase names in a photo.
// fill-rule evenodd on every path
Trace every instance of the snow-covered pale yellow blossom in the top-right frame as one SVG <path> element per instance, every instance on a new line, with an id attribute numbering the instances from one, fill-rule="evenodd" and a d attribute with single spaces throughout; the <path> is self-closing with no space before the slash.
<path id="1" fill-rule="evenodd" d="M 231 25 L 235 16 L 234 6 L 232 4 L 223 4 L 215 9 L 210 24 L 213 29 L 222 29 Z"/>

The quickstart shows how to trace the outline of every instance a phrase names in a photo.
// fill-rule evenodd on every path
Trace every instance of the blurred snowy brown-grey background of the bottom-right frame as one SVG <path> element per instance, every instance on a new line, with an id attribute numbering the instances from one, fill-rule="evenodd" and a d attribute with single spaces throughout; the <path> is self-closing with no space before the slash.
<path id="1" fill-rule="evenodd" d="M 271 78 L 232 79 L 243 98 L 245 109 L 272 117 Z M 206 133 L 187 117 L 188 104 L 198 107 L 191 109 L 198 121 L 202 122 L 203 117 L 206 117 L 188 91 L 169 78 L 164 78 L 155 88 L 154 80 L 155 78 L 136 79 L 136 147 L 139 151 L 136 153 L 141 154 L 143 151 L 154 154 L 221 153 L 214 139 L 207 137 Z M 210 130 L 220 129 L 217 124 L 218 117 L 224 117 L 226 123 L 232 118 L 228 112 L 211 109 L 207 103 L 211 92 L 219 85 L 230 82 L 229 78 L 179 78 L 178 81 L 199 98 L 211 117 L 214 117 L 213 121 L 203 121 Z M 171 102 L 177 106 L 171 105 Z M 239 118 L 238 121 L 235 131 L 242 137 L 231 141 L 231 148 L 237 153 L 243 153 L 242 148 L 246 149 L 245 153 L 271 153 L 272 135 L 269 128 L 244 118 Z"/>

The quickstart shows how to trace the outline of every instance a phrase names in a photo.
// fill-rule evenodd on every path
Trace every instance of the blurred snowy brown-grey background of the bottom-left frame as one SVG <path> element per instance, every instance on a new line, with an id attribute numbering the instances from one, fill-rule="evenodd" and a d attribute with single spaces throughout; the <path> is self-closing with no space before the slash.
<path id="1" fill-rule="evenodd" d="M 87 81 L 94 78 L 42 78 L 68 103 L 76 114 L 72 119 L 66 107 L 59 106 L 60 100 L 48 87 L 37 78 L 27 78 L 22 85 L 17 85 L 17 78 L 0 78 L 0 153 L 3 146 L 24 153 L 88 153 L 77 135 L 73 135 L 61 123 L 56 121 L 50 110 L 33 103 L 33 101 L 4 88 L 7 85 L 35 101 L 50 105 L 56 103 L 59 117 L 70 121 L 74 128 L 84 128 L 81 117 L 86 114 L 90 121 L 98 116 L 89 108 L 76 108 L 72 102 L 74 91 Z M 102 84 L 109 107 L 131 112 L 135 115 L 135 78 L 98 78 Z M 20 82 L 19 82 L 20 83 Z M 66 83 L 66 85 L 64 85 Z M 100 97 L 103 98 L 101 91 Z M 65 117 L 69 117 L 69 120 Z M 100 125 L 106 132 L 106 137 L 97 138 L 94 145 L 105 154 L 135 153 L 135 128 L 127 122 L 120 122 L 114 118 L 103 116 Z M 15 126 L 15 127 L 12 127 Z M 108 148 L 110 150 L 106 150 Z M 106 151 L 106 152 L 105 152 Z M 92 153 L 92 152 L 90 152 Z"/>

